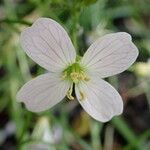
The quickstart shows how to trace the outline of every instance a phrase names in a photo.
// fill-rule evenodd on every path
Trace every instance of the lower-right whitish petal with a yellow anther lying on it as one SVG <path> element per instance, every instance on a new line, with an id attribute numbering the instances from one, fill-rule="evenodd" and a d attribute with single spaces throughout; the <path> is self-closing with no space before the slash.
<path id="1" fill-rule="evenodd" d="M 75 87 L 79 103 L 94 119 L 106 122 L 123 111 L 123 102 L 119 93 L 106 81 L 93 78 Z M 81 100 L 81 93 L 85 99 Z"/>

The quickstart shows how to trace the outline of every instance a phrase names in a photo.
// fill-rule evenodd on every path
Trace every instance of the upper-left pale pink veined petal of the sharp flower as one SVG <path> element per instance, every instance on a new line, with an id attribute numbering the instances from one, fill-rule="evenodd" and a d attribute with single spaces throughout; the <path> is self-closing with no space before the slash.
<path id="1" fill-rule="evenodd" d="M 73 63 L 76 52 L 67 32 L 56 21 L 39 18 L 21 33 L 21 45 L 36 63 L 56 72 Z"/>

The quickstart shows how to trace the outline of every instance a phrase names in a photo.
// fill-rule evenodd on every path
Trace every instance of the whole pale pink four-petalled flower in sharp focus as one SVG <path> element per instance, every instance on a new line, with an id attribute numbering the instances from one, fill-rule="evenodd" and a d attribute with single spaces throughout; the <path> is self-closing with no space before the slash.
<path id="1" fill-rule="evenodd" d="M 62 26 L 39 18 L 21 33 L 20 42 L 27 55 L 49 71 L 17 93 L 28 110 L 47 110 L 65 96 L 73 100 L 74 88 L 79 103 L 96 120 L 106 122 L 122 113 L 121 96 L 102 78 L 123 72 L 136 60 L 138 50 L 128 33 L 107 34 L 79 57 Z"/>

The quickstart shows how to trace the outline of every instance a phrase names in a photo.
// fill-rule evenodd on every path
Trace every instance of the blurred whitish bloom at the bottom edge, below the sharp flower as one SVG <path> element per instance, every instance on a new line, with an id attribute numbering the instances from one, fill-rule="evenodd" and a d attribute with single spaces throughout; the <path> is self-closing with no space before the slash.
<path id="1" fill-rule="evenodd" d="M 51 126 L 46 116 L 38 118 L 31 134 L 31 141 L 23 149 L 56 150 L 56 145 L 62 140 L 62 128 L 59 124 Z"/>

